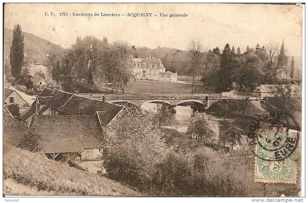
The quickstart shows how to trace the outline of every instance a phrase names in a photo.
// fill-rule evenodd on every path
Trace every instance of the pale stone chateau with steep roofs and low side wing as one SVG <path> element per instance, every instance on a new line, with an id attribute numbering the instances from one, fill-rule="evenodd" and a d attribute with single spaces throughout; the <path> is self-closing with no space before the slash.
<path id="1" fill-rule="evenodd" d="M 131 67 L 137 80 L 177 81 L 177 73 L 166 72 L 161 60 L 154 57 L 141 59 L 131 56 Z"/>

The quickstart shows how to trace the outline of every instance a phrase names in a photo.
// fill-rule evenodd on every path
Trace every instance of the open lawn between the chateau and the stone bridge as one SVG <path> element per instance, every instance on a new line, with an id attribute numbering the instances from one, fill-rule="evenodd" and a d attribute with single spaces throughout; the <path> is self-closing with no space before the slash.
<path id="1" fill-rule="evenodd" d="M 135 81 L 129 82 L 124 90 L 142 93 L 160 94 L 189 94 L 192 91 L 191 84 L 161 82 L 161 81 Z M 195 85 L 195 93 L 213 93 L 213 90 L 204 85 Z"/>

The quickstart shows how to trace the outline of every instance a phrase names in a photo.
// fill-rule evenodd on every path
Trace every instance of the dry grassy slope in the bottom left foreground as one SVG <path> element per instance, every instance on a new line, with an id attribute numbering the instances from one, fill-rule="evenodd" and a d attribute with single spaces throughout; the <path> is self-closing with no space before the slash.
<path id="1" fill-rule="evenodd" d="M 10 195 L 141 195 L 106 177 L 6 143 L 3 144 L 3 179 L 3 193 Z"/>

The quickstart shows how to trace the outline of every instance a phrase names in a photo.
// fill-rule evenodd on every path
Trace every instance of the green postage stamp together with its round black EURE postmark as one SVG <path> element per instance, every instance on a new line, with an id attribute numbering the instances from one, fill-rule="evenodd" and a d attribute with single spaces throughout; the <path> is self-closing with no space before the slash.
<path id="1" fill-rule="evenodd" d="M 259 116 L 250 126 L 255 154 L 254 182 L 296 184 L 300 128 L 287 113 Z M 300 148 L 300 147 L 299 147 Z"/>

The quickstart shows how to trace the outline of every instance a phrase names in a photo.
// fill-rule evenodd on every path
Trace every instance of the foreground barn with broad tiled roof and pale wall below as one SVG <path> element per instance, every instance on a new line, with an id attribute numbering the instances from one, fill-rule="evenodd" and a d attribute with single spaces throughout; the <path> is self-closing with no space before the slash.
<path id="1" fill-rule="evenodd" d="M 99 160 L 102 130 L 96 116 L 34 115 L 30 127 L 41 135 L 39 151 L 53 160 Z"/>

